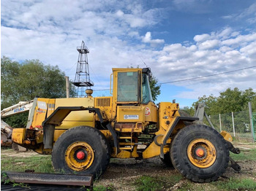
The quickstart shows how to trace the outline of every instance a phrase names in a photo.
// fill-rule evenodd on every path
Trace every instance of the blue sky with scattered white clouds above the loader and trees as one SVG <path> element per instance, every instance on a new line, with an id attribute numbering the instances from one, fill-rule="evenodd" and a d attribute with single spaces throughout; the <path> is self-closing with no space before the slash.
<path id="1" fill-rule="evenodd" d="M 151 68 L 157 103 L 256 91 L 256 1 L 1 0 L 1 58 L 39 59 L 75 79 L 82 41 L 94 96 L 110 95 L 112 68 L 128 66 Z"/>

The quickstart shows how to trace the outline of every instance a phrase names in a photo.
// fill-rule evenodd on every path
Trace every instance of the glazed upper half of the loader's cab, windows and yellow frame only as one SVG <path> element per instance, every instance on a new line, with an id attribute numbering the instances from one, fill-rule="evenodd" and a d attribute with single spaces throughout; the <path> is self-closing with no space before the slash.
<path id="1" fill-rule="evenodd" d="M 113 69 L 113 99 L 118 105 L 153 102 L 150 69 Z"/>

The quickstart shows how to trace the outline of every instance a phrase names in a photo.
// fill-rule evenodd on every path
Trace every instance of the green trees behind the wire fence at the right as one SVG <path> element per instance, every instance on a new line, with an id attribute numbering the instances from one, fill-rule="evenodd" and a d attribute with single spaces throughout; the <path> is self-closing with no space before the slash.
<path id="1" fill-rule="evenodd" d="M 246 132 L 245 123 L 248 122 L 248 102 L 252 102 L 252 111 L 256 111 L 256 93 L 249 88 L 247 90 L 239 90 L 235 87 L 233 90 L 227 88 L 218 97 L 213 95 L 198 98 L 193 106 L 195 107 L 199 102 L 206 104 L 206 113 L 211 115 L 211 121 L 219 121 L 219 114 L 222 114 L 222 125 L 226 130 L 232 132 L 232 112 L 236 122 L 236 131 L 238 133 Z M 217 124 L 218 125 L 218 124 Z"/>

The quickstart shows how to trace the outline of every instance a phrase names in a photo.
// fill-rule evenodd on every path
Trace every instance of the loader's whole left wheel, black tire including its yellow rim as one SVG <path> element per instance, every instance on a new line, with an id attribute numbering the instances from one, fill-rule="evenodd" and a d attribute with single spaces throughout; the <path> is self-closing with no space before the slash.
<path id="1" fill-rule="evenodd" d="M 66 130 L 53 146 L 53 168 L 59 172 L 93 174 L 97 179 L 109 161 L 108 141 L 96 128 L 78 126 Z"/>

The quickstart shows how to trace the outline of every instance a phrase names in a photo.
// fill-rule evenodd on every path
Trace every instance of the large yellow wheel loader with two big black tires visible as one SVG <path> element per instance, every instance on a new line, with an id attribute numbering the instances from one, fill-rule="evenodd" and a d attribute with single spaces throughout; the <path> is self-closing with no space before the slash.
<path id="1" fill-rule="evenodd" d="M 160 156 L 193 182 L 219 178 L 233 145 L 198 117 L 183 117 L 173 101 L 154 104 L 151 70 L 113 69 L 111 96 L 35 98 L 26 128 L 15 128 L 12 141 L 42 155 L 65 174 L 99 177 L 110 158 Z M 231 145 L 231 146 L 230 146 Z"/>

